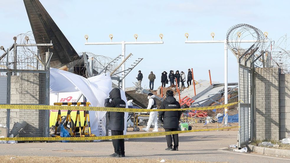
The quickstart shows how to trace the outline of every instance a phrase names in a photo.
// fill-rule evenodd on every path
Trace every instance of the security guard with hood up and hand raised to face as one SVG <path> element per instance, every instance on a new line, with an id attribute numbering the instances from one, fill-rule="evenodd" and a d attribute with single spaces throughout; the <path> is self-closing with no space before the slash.
<path id="1" fill-rule="evenodd" d="M 109 93 L 110 98 L 105 99 L 105 107 L 111 108 L 126 108 L 126 102 L 121 99 L 121 92 L 119 88 L 114 88 Z M 109 123 L 107 129 L 111 130 L 112 136 L 124 135 L 124 112 L 109 112 Z M 113 139 L 113 146 L 115 153 L 110 157 L 125 157 L 124 139 Z"/>

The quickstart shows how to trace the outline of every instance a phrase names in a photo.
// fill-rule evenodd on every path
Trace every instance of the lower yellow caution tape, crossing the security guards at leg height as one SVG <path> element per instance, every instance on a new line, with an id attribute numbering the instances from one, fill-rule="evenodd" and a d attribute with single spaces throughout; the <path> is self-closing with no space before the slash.
<path id="1" fill-rule="evenodd" d="M 198 131 L 214 131 L 214 130 L 224 130 L 237 128 L 239 126 L 231 126 L 219 129 L 201 129 L 201 130 L 187 130 L 187 131 L 168 131 L 168 132 L 155 132 L 155 133 L 145 133 L 145 134 L 132 134 L 132 135 L 116 135 L 116 136 L 94 136 L 94 137 L 32 137 L 32 138 L 0 138 L 0 140 L 14 140 L 14 141 L 58 141 L 58 140 L 109 140 L 109 139 L 129 139 L 129 138 L 143 138 L 143 137 L 153 137 L 153 136 L 163 136 L 172 134 L 182 134 L 187 132 L 198 132 Z"/>

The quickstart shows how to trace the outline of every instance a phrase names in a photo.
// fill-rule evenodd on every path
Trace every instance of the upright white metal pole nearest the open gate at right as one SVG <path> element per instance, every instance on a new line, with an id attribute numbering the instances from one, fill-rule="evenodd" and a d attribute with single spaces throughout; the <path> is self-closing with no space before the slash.
<path id="1" fill-rule="evenodd" d="M 225 40 L 225 104 L 227 104 L 227 40 Z M 227 107 L 225 107 L 225 126 L 227 125 Z"/>

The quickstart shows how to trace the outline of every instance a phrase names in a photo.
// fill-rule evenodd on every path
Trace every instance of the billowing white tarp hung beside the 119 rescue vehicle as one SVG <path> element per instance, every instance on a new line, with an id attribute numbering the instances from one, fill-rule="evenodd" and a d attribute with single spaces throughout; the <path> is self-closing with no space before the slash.
<path id="1" fill-rule="evenodd" d="M 109 73 L 100 74 L 91 78 L 84 78 L 67 71 L 50 68 L 50 93 L 80 91 L 91 103 L 91 106 L 104 107 L 104 100 L 109 97 L 112 90 L 112 80 Z M 122 100 L 126 100 L 124 91 L 121 90 Z M 128 106 L 126 105 L 126 108 Z M 89 111 L 91 132 L 99 135 L 99 120 L 106 114 L 105 111 Z M 125 113 L 127 124 L 128 113 Z M 126 125 L 124 134 L 126 133 Z"/>

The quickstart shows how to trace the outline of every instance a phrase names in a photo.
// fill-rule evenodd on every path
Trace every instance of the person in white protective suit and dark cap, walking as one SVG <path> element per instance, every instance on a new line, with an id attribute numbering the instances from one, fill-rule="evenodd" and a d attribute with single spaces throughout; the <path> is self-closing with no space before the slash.
<path id="1" fill-rule="evenodd" d="M 156 105 L 156 101 L 155 101 L 155 95 L 153 95 L 153 93 L 148 93 L 148 107 L 147 109 L 157 109 L 157 105 Z M 151 111 L 150 112 L 150 116 L 149 116 L 149 120 L 147 123 L 147 127 L 143 128 L 143 131 L 149 131 L 151 124 L 154 125 L 154 130 L 155 132 L 158 132 L 158 117 L 157 117 L 158 111 Z"/>

